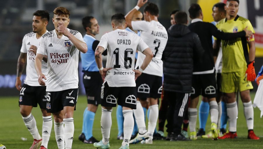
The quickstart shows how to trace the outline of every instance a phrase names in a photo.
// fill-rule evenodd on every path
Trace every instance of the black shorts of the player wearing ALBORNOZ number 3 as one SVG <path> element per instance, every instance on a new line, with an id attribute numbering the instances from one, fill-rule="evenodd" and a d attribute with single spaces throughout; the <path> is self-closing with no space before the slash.
<path id="1" fill-rule="evenodd" d="M 160 98 L 162 94 L 162 77 L 142 73 L 136 79 L 136 89 L 140 100 Z"/>

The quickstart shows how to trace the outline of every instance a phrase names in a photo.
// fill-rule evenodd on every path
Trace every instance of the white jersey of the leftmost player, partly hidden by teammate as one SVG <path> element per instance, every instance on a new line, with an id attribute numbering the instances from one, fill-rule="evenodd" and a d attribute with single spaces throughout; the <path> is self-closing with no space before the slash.
<path id="1" fill-rule="evenodd" d="M 35 69 L 36 55 L 34 52 L 29 51 L 31 45 L 38 47 L 40 40 L 41 38 L 37 39 L 36 33 L 33 32 L 28 33 L 23 38 L 22 47 L 20 50 L 20 52 L 22 53 L 27 53 L 27 68 L 26 68 L 27 77 L 25 79 L 25 84 L 30 86 L 40 86 L 38 83 L 37 71 Z M 44 60 L 42 60 L 42 72 L 44 75 L 47 75 L 47 63 L 44 62 Z M 46 82 L 46 80 L 44 81 Z"/>

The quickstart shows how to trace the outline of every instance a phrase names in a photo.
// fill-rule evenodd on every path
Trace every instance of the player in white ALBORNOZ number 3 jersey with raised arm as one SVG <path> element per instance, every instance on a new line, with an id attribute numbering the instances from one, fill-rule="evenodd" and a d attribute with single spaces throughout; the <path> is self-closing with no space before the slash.
<path id="1" fill-rule="evenodd" d="M 137 88 L 137 108 L 134 110 L 136 123 L 139 128 L 139 135 L 131 140 L 130 143 L 138 143 L 148 138 L 142 143 L 152 144 L 153 133 L 158 119 L 158 98 L 162 92 L 162 52 L 167 43 L 167 31 L 160 22 L 158 22 L 159 9 L 156 4 L 149 3 L 144 8 L 145 21 L 131 21 L 132 15 L 139 10 L 147 0 L 139 0 L 137 5 L 126 15 L 127 26 L 134 30 L 141 30 L 141 38 L 150 47 L 154 56 L 148 67 L 143 71 L 142 76 L 136 80 Z M 145 56 L 139 52 L 135 68 L 139 68 Z M 144 121 L 143 104 L 149 101 L 149 122 L 148 132 Z"/>

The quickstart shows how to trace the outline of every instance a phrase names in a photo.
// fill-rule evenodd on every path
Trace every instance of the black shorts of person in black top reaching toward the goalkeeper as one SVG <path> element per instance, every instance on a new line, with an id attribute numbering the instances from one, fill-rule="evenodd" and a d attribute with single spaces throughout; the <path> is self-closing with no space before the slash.
<path id="1" fill-rule="evenodd" d="M 191 99 L 202 95 L 207 98 L 217 97 L 217 75 L 210 74 L 193 75 Z"/>

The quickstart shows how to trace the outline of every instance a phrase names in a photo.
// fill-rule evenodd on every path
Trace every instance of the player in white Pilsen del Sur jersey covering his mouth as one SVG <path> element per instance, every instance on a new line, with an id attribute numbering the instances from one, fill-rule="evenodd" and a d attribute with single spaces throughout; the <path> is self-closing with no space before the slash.
<path id="1" fill-rule="evenodd" d="M 74 134 L 73 112 L 78 98 L 79 51 L 86 53 L 87 45 L 81 33 L 67 28 L 70 22 L 68 9 L 57 7 L 53 13 L 55 30 L 42 36 L 35 67 L 39 84 L 46 85 L 46 110 L 54 116 L 58 148 L 71 149 Z M 41 69 L 45 53 L 48 59 L 47 77 Z M 43 79 L 47 79 L 47 82 Z"/>

